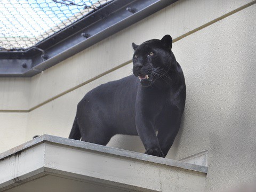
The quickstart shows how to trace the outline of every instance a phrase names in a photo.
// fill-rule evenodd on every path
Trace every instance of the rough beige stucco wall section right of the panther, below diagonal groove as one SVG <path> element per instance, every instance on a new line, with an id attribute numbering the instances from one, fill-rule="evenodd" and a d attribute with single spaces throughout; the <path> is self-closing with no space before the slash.
<path id="1" fill-rule="evenodd" d="M 169 154 L 209 150 L 206 191 L 256 179 L 255 13 L 250 6 L 174 44 L 187 102 Z"/>

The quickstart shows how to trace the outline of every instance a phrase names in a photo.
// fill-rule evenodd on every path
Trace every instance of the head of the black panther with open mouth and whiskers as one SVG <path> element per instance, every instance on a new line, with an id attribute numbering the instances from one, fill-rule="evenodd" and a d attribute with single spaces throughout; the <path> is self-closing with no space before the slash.
<path id="1" fill-rule="evenodd" d="M 133 74 L 140 79 L 141 86 L 147 87 L 156 79 L 166 79 L 171 67 L 172 37 L 165 35 L 161 40 L 151 39 L 136 45 L 132 43 Z"/>

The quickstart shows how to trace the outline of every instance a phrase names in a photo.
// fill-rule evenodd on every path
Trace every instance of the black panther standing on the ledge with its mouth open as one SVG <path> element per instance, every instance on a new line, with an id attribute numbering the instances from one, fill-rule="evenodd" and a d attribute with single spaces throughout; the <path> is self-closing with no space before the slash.
<path id="1" fill-rule="evenodd" d="M 165 157 L 185 108 L 185 78 L 170 35 L 132 46 L 133 75 L 89 91 L 69 138 L 107 145 L 115 134 L 139 135 L 145 154 Z"/>

